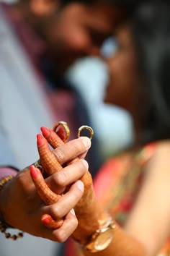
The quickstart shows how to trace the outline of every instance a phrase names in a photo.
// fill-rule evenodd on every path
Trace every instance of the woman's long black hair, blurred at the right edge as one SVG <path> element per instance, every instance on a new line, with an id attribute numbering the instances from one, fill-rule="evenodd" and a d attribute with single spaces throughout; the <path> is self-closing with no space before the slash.
<path id="1" fill-rule="evenodd" d="M 147 142 L 170 138 L 170 4 L 166 2 L 143 1 L 132 15 Z"/>

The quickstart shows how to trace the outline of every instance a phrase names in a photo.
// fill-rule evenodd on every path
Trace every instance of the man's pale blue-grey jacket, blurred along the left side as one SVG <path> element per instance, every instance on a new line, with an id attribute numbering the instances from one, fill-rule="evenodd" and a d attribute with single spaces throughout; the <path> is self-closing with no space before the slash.
<path id="1" fill-rule="evenodd" d="M 53 127 L 54 119 L 40 80 L 1 9 L 0 91 L 0 163 L 22 169 L 37 160 L 36 134 L 42 125 Z M 56 256 L 58 247 L 29 234 L 13 242 L 0 233 L 3 256 Z"/>

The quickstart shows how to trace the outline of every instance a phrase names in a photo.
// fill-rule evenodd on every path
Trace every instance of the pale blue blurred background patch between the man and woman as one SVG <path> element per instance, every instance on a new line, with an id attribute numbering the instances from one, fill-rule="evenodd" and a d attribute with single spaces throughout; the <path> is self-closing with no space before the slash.
<path id="1" fill-rule="evenodd" d="M 111 42 L 106 42 L 104 47 L 107 47 L 107 43 Z M 104 87 L 108 79 L 104 62 L 97 58 L 81 59 L 68 70 L 67 75 L 86 101 L 103 158 L 130 145 L 133 141 L 130 115 L 122 108 L 103 103 Z"/>

